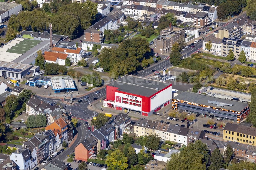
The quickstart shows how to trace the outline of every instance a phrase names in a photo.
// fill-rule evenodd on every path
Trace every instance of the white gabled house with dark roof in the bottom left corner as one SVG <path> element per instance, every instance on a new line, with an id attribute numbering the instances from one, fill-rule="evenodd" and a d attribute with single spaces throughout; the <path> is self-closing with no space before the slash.
<path id="1" fill-rule="evenodd" d="M 18 149 L 10 155 L 10 159 L 17 165 L 19 170 L 30 170 L 31 153 L 28 148 Z"/>

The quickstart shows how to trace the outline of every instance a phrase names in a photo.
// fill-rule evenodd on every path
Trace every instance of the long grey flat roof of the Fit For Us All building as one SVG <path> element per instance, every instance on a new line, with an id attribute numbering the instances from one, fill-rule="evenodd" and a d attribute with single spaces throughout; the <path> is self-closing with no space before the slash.
<path id="1" fill-rule="evenodd" d="M 245 107 L 248 106 L 248 104 L 244 103 L 244 102 L 227 100 L 227 99 L 222 99 L 222 98 L 217 98 L 217 97 L 213 97 L 213 96 L 192 93 L 192 92 L 187 92 L 187 91 L 181 92 L 180 94 L 175 96 L 173 99 L 180 99 L 180 100 L 185 100 L 188 102 L 199 103 L 202 105 L 218 107 L 218 108 L 223 108 L 223 109 L 233 110 L 233 111 L 238 111 L 238 112 L 240 112 L 241 110 L 243 110 Z M 208 103 L 208 101 L 217 101 L 217 102 L 226 103 L 226 104 L 230 104 L 230 105 L 233 104 L 233 106 L 225 105 L 222 107 L 222 106 L 217 106 L 216 104 Z"/>

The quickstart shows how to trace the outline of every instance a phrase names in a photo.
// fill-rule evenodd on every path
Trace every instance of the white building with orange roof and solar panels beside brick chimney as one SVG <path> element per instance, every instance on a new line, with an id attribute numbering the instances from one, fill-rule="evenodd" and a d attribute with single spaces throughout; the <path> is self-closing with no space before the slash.
<path id="1" fill-rule="evenodd" d="M 54 45 L 54 47 L 52 48 L 52 51 L 70 54 L 71 62 L 75 62 L 75 63 L 77 63 L 78 60 L 80 60 L 79 57 L 84 54 L 84 50 L 82 48 L 72 47 L 72 49 L 70 49 L 69 47 L 65 47 L 62 45 Z"/>

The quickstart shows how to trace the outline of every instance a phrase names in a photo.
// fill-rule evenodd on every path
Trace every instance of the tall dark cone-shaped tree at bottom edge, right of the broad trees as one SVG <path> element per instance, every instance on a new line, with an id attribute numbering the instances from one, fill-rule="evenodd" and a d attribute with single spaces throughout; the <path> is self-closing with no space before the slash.
<path id="1" fill-rule="evenodd" d="M 219 170 L 225 167 L 223 156 L 221 155 L 218 148 L 215 148 L 210 157 L 211 165 L 209 170 Z"/>

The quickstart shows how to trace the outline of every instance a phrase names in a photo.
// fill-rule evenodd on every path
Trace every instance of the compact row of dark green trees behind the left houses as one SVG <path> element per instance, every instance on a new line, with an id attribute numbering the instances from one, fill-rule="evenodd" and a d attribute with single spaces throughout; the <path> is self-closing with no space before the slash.
<path id="1" fill-rule="evenodd" d="M 27 119 L 28 128 L 46 127 L 46 117 L 43 114 L 30 115 Z"/>

